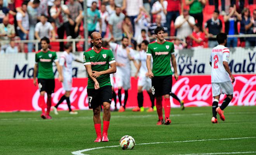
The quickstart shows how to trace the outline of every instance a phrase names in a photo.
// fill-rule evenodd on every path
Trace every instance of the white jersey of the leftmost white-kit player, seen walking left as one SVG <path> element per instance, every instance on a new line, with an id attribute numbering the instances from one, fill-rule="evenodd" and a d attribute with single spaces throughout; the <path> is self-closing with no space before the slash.
<path id="1" fill-rule="evenodd" d="M 60 57 L 60 65 L 63 66 L 63 74 L 72 76 L 72 61 L 75 60 L 73 53 L 64 51 Z"/>

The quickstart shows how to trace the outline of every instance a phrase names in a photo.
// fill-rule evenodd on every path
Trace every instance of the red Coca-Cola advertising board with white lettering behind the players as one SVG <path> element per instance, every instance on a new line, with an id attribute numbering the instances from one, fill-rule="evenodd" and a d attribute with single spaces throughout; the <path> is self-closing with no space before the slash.
<path id="1" fill-rule="evenodd" d="M 52 104 L 57 104 L 58 100 L 65 93 L 61 83 L 55 80 L 55 93 L 52 94 Z M 33 85 L 32 79 L 24 80 L 0 80 L 0 111 L 40 111 L 38 106 L 39 90 Z M 88 109 L 87 100 L 87 78 L 73 78 L 73 88 L 70 95 L 71 108 L 86 110 Z M 234 98 L 229 106 L 255 106 L 256 105 L 256 75 L 235 75 Z M 213 102 L 211 92 L 210 75 L 180 76 L 177 81 L 173 78 L 172 92 L 181 100 L 184 105 L 189 106 L 211 106 Z M 127 108 L 137 106 L 137 79 L 131 78 L 131 89 L 129 90 Z M 117 89 L 116 89 L 117 94 Z M 124 94 L 123 94 L 124 95 Z M 124 96 L 122 96 L 123 102 Z M 225 95 L 221 95 L 222 103 Z M 45 100 L 47 97 L 45 96 Z M 179 107 L 180 104 L 173 98 L 171 107 Z M 118 107 L 119 100 L 117 97 Z M 144 107 L 150 106 L 147 92 L 144 92 Z M 61 104 L 59 110 L 67 110 L 66 101 Z M 111 108 L 114 108 L 112 101 Z"/>

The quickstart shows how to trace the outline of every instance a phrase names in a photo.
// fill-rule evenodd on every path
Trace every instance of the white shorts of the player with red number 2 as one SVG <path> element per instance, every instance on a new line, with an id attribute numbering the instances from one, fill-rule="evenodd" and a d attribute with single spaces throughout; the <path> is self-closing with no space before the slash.
<path id="1" fill-rule="evenodd" d="M 231 81 L 211 83 L 211 88 L 213 91 L 213 97 L 220 94 L 232 95 L 234 93 L 234 88 Z"/>

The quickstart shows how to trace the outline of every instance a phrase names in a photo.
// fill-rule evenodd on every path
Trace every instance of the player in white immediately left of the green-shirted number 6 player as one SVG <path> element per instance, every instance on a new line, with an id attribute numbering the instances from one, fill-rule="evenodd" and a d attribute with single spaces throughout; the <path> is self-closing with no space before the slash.
<path id="1" fill-rule="evenodd" d="M 132 111 L 144 111 L 143 107 L 143 90 L 147 90 L 147 93 L 149 94 L 150 101 L 151 101 L 151 107 L 147 110 L 147 112 L 152 112 L 156 111 L 156 106 L 155 106 L 155 98 L 152 95 L 151 92 L 151 79 L 147 75 L 147 46 L 149 42 L 144 40 L 141 43 L 141 51 L 139 52 L 138 58 L 135 58 L 136 60 L 139 61 L 138 64 L 138 70 L 136 75 L 139 73 L 139 78 L 138 78 L 138 95 L 137 95 L 137 100 L 138 100 L 138 107 L 135 107 L 132 109 Z M 136 76 L 135 76 L 136 77 Z"/>

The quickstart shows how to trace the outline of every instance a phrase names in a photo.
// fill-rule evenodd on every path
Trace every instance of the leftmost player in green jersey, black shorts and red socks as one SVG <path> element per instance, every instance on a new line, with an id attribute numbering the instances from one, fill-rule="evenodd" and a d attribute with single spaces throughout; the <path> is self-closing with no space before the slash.
<path id="1" fill-rule="evenodd" d="M 60 72 L 59 61 L 55 52 L 51 51 L 48 47 L 50 40 L 47 37 L 43 37 L 40 41 L 42 49 L 36 53 L 36 63 L 34 67 L 33 83 L 36 85 L 36 74 L 38 71 L 38 88 L 40 91 L 39 106 L 42 108 L 41 118 L 51 119 L 50 109 L 52 106 L 52 93 L 55 88 L 54 72 L 52 70 L 52 63 L 55 62 L 57 70 L 59 72 L 59 80 L 62 81 L 63 77 Z M 47 112 L 45 114 L 45 93 L 47 93 Z"/>

